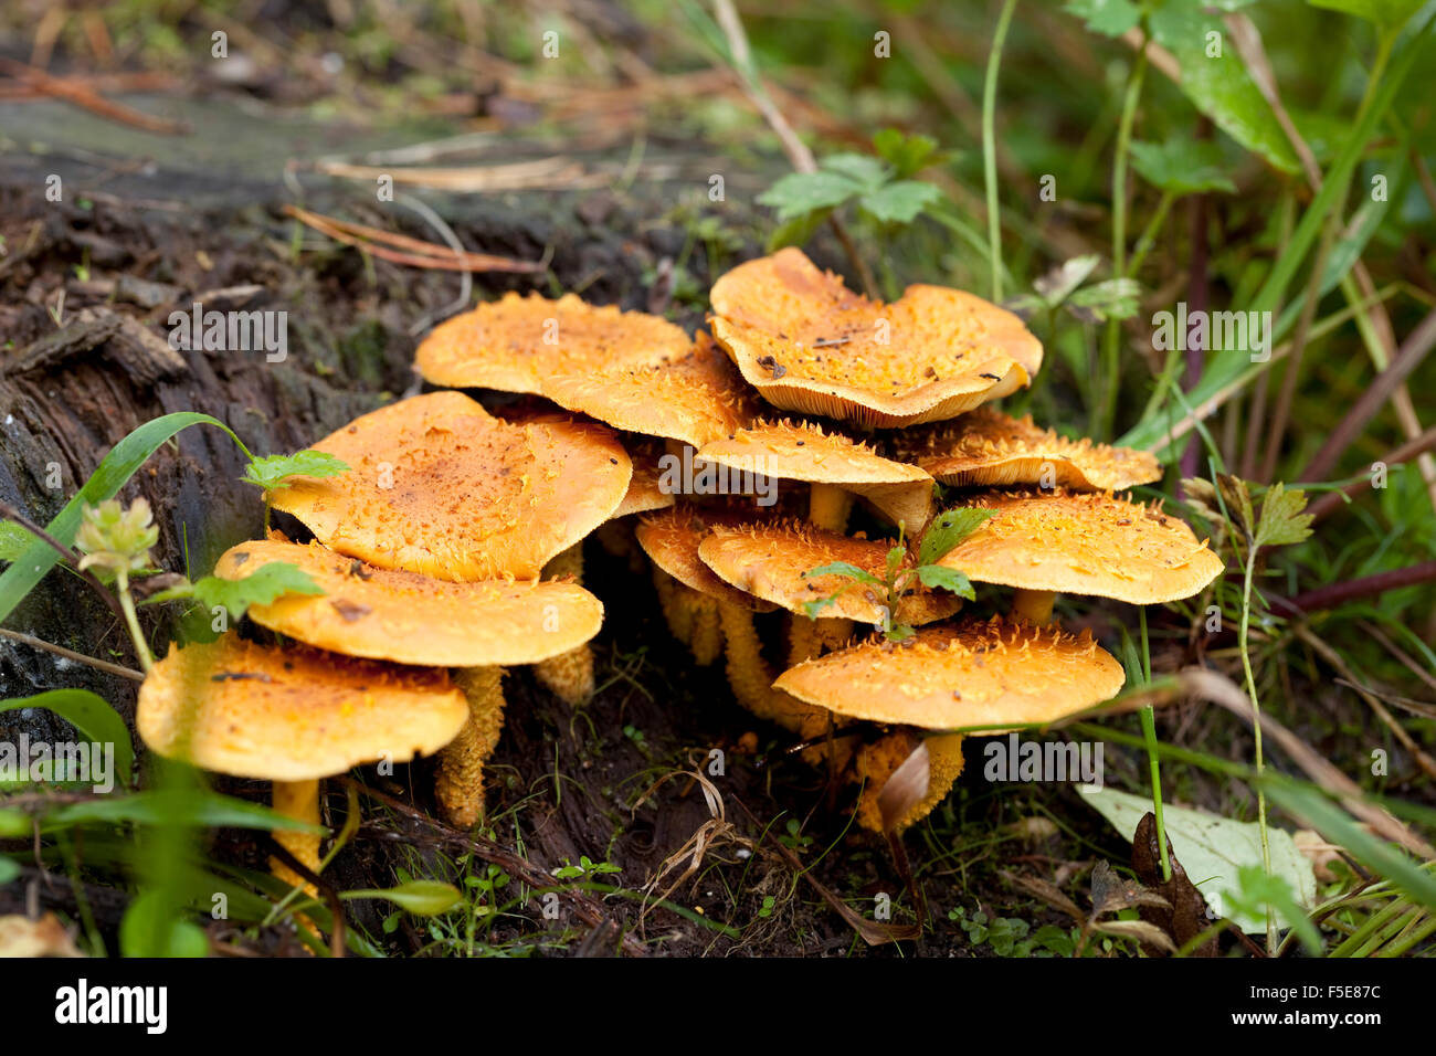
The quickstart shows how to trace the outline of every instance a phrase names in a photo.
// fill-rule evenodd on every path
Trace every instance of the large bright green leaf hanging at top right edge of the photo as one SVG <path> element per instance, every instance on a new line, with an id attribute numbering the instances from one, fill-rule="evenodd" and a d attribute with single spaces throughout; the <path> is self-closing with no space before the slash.
<path id="1" fill-rule="evenodd" d="M 1202 114 L 1282 172 L 1300 172 L 1291 141 L 1219 17 L 1186 0 L 1166 0 L 1152 10 L 1149 24 L 1156 42 L 1176 56 L 1182 66 L 1180 88 Z M 1218 46 L 1221 55 L 1208 55 Z"/>

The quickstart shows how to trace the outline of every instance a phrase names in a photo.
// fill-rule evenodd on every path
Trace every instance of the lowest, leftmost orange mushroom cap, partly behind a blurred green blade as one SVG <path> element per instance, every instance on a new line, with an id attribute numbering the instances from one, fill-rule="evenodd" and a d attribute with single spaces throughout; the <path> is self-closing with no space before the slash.
<path id="1" fill-rule="evenodd" d="M 139 687 L 154 751 L 236 777 L 303 782 L 448 744 L 468 704 L 442 668 L 404 668 L 236 634 L 174 648 Z"/>

